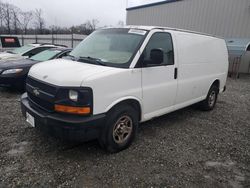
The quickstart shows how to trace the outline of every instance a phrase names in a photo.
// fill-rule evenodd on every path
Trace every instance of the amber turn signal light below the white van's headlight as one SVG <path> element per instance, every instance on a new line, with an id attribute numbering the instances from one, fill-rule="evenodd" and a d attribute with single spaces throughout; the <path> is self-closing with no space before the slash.
<path id="1" fill-rule="evenodd" d="M 55 111 L 69 114 L 87 115 L 90 114 L 90 107 L 74 107 L 65 105 L 55 105 Z"/>

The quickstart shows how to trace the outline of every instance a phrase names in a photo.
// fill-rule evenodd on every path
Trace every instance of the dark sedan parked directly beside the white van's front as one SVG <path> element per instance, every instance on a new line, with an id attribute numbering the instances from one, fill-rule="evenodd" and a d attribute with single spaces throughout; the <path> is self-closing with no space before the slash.
<path id="1" fill-rule="evenodd" d="M 0 86 L 23 90 L 29 69 L 34 64 L 68 56 L 71 50 L 69 48 L 51 48 L 29 59 L 1 62 Z"/>

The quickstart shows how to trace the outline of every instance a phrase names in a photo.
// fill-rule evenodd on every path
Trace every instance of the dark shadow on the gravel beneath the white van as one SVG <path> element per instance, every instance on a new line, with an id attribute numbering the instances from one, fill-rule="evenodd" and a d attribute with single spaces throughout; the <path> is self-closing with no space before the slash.
<path id="1" fill-rule="evenodd" d="M 168 129 L 170 127 L 178 125 L 180 121 L 186 121 L 186 119 L 194 116 L 196 114 L 194 112 L 196 111 L 200 111 L 197 105 L 192 105 L 190 107 L 163 115 L 161 117 L 154 118 L 153 120 L 147 121 L 145 123 L 141 123 L 139 125 L 136 142 L 140 142 L 140 138 L 143 137 L 143 139 L 150 139 L 151 134 L 153 134 L 154 130 L 157 128 Z M 33 149 L 37 150 L 37 145 L 40 145 L 47 154 L 56 151 L 58 154 L 67 156 L 68 158 L 77 158 L 79 156 L 87 157 L 93 155 L 110 155 L 110 153 L 101 148 L 97 140 L 89 142 L 63 141 L 57 138 L 50 137 L 40 132 L 39 130 L 36 130 L 35 132 L 33 132 L 33 134 L 36 134 L 37 137 L 36 141 L 33 141 Z M 72 155 L 72 153 L 74 153 L 74 155 Z"/>

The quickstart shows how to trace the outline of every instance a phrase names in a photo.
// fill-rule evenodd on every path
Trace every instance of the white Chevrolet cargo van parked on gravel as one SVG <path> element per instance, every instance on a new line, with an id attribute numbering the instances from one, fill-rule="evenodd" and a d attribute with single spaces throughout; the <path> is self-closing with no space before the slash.
<path id="1" fill-rule="evenodd" d="M 223 39 L 160 27 L 101 29 L 68 59 L 31 68 L 22 112 L 51 135 L 98 139 L 117 152 L 140 122 L 198 102 L 212 110 L 227 72 Z"/>

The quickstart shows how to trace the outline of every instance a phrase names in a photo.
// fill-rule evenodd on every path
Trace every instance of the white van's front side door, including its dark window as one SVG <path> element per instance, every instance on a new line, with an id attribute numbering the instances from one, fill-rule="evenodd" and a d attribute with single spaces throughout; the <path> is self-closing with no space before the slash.
<path id="1" fill-rule="evenodd" d="M 143 110 L 146 120 L 173 109 L 177 92 L 177 68 L 172 36 L 154 33 L 141 57 Z"/>

